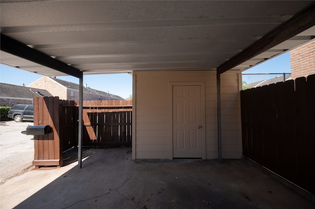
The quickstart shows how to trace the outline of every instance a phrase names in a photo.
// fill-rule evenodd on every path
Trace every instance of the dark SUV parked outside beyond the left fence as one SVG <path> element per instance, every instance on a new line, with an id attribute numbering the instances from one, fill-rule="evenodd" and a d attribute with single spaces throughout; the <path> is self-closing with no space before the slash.
<path id="1" fill-rule="evenodd" d="M 8 112 L 8 117 L 14 119 L 15 122 L 22 120 L 34 120 L 34 106 L 32 104 L 16 104 L 11 107 Z"/>

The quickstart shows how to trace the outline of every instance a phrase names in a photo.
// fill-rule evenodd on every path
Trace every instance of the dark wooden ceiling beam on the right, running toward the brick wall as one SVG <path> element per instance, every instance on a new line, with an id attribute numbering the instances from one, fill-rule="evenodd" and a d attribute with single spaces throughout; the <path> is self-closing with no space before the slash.
<path id="1" fill-rule="evenodd" d="M 262 38 L 245 48 L 217 68 L 217 73 L 222 74 L 237 65 L 265 52 L 293 36 L 315 26 L 315 3 L 294 15 L 292 18 L 276 27 Z"/>

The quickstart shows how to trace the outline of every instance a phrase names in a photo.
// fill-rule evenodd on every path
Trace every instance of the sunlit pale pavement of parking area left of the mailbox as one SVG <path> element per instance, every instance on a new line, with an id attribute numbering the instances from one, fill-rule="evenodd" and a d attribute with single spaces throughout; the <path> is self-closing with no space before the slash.
<path id="1" fill-rule="evenodd" d="M 0 123 L 0 180 L 19 175 L 32 166 L 34 141 L 32 135 L 23 134 L 33 122 L 5 121 Z"/>

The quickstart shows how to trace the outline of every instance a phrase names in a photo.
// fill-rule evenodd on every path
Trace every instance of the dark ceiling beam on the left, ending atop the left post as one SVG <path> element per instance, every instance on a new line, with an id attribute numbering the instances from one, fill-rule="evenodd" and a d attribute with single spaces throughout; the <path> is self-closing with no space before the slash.
<path id="1" fill-rule="evenodd" d="M 60 71 L 70 76 L 80 78 L 82 73 L 79 69 L 74 68 L 58 59 L 55 59 L 43 52 L 35 50 L 13 38 L 1 33 L 1 51 L 11 53 L 21 58 L 30 60 L 42 66 Z"/>

